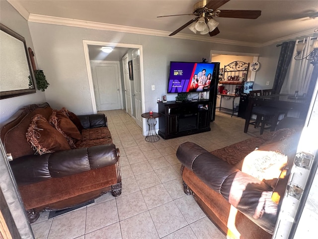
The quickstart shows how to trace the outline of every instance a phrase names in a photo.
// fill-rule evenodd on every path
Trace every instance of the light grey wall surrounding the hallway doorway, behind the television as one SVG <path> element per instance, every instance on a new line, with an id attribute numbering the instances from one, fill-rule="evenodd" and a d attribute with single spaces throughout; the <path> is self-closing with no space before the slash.
<path id="1" fill-rule="evenodd" d="M 255 52 L 258 49 L 107 30 L 44 23 L 29 23 L 39 68 L 50 87 L 47 101 L 55 108 L 65 106 L 77 114 L 92 113 L 82 40 L 119 42 L 143 46 L 145 109 L 158 109 L 157 98 L 166 95 L 170 61 L 210 60 L 211 50 Z M 151 91 L 151 85 L 156 90 Z M 167 100 L 175 100 L 175 94 Z"/>

